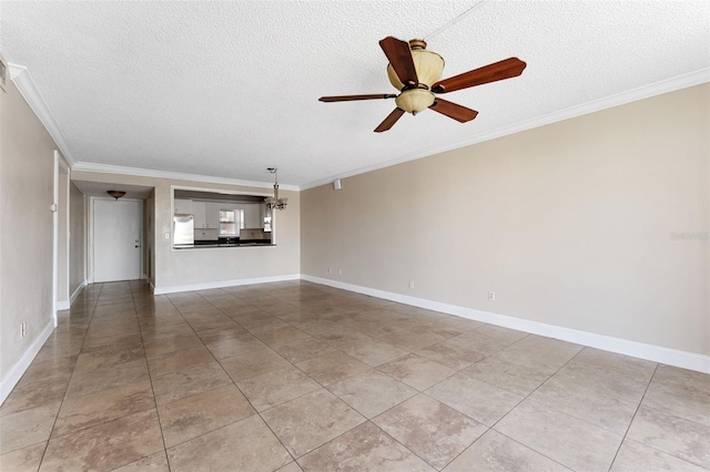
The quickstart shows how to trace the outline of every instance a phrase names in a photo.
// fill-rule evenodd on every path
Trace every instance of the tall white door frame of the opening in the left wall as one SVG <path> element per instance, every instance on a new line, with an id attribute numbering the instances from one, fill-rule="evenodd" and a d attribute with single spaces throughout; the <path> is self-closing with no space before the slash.
<path id="1" fill-rule="evenodd" d="M 57 298 L 59 297 L 59 269 L 60 269 L 60 265 L 59 265 L 59 216 L 60 214 L 62 216 L 64 216 L 67 218 L 65 224 L 67 224 L 67 230 L 69 230 L 69 208 L 70 208 L 70 204 L 69 204 L 69 196 L 70 196 L 70 186 L 71 186 L 71 166 L 69 165 L 69 163 L 64 160 L 64 157 L 62 156 L 62 154 L 58 151 L 54 150 L 54 179 L 53 179 L 53 195 L 52 195 L 52 205 L 51 205 L 51 211 L 52 211 L 52 317 L 54 318 L 54 327 L 58 326 L 59 321 L 57 318 L 57 311 L 58 311 L 58 300 Z M 63 205 L 60 208 L 60 199 L 59 199 L 59 179 L 60 179 L 60 175 L 63 173 L 67 174 L 67 181 L 68 181 L 68 185 L 67 185 L 67 195 L 64 195 L 63 198 Z M 69 242 L 69 235 L 67 235 L 67 247 L 65 247 L 65 256 L 67 256 L 67 260 L 64 260 L 64 268 L 67 269 L 67 286 L 69 286 L 69 260 L 70 260 L 70 255 L 69 255 L 69 249 L 70 249 L 70 242 Z M 69 300 L 69 289 L 67 289 L 67 299 Z"/>

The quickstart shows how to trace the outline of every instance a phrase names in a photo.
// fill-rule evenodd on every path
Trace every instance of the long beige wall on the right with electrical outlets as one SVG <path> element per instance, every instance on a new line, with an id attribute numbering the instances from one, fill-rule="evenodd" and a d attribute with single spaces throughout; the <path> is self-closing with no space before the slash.
<path id="1" fill-rule="evenodd" d="M 708 91 L 302 192 L 301 270 L 709 355 Z"/>

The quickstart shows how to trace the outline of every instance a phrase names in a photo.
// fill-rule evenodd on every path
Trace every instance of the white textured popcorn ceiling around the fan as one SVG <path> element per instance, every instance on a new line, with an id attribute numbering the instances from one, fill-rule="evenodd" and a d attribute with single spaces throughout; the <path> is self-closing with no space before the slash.
<path id="1" fill-rule="evenodd" d="M 710 66 L 710 2 L 2 2 L 0 50 L 28 68 L 77 163 L 310 186 L 448 148 Z M 444 76 L 518 57 L 520 78 L 373 130 L 394 101 L 377 42 L 424 37 Z"/>

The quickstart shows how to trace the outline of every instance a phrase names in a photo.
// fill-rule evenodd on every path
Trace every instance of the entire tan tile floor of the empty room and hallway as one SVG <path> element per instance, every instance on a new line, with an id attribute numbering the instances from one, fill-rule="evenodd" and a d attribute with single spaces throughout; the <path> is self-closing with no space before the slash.
<path id="1" fill-rule="evenodd" d="M 710 376 L 304 281 L 87 287 L 2 471 L 699 471 Z"/>

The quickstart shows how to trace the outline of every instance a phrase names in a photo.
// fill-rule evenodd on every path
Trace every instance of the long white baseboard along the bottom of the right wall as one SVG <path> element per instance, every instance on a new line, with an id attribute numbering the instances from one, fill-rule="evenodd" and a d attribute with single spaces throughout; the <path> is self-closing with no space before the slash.
<path id="1" fill-rule="evenodd" d="M 665 348 L 662 346 L 647 345 L 643 342 L 630 341 L 628 339 L 613 338 L 610 336 L 597 335 L 588 331 L 580 331 L 561 326 L 546 325 L 544 322 L 498 315 L 489 311 L 476 310 L 473 308 L 459 307 L 456 305 L 443 304 L 439 301 L 432 301 L 424 298 L 410 297 L 407 295 L 378 290 L 375 288 L 346 284 L 321 277 L 301 275 L 301 278 L 303 280 L 312 281 L 315 284 L 342 288 L 344 290 L 355 291 L 357 294 L 369 295 L 372 297 L 383 298 L 385 300 L 397 301 L 405 305 L 412 305 L 419 308 L 426 308 L 448 315 L 455 315 L 462 318 L 468 318 L 476 321 L 501 326 L 504 328 L 517 329 L 520 331 L 530 332 L 532 335 L 561 339 L 564 341 L 574 342 L 581 346 L 588 346 L 606 351 L 637 357 L 640 359 L 647 359 L 655 362 L 680 367 L 683 369 L 696 370 L 698 372 L 710 373 L 710 356 Z"/>

